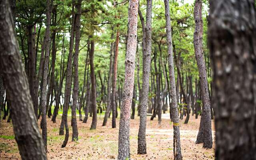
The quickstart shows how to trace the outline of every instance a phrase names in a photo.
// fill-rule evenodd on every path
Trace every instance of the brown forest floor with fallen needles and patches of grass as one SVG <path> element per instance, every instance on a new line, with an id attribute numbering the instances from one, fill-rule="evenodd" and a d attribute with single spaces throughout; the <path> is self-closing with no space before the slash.
<path id="1" fill-rule="evenodd" d="M 70 119 L 69 116 L 69 125 Z M 78 117 L 77 117 L 78 118 Z M 92 118 L 83 124 L 78 122 L 79 140 L 71 142 L 72 127 L 66 148 L 61 148 L 64 136 L 59 136 L 61 116 L 58 115 L 57 123 L 52 123 L 47 118 L 48 126 L 48 160 L 111 160 L 117 159 L 118 155 L 118 126 L 119 117 L 116 120 L 117 128 L 111 128 L 111 119 L 108 119 L 107 126 L 102 126 L 104 115 L 98 116 L 96 130 L 90 130 Z M 184 124 L 185 118 L 180 120 L 180 138 L 183 160 L 214 160 L 214 147 L 212 149 L 202 148 L 202 144 L 195 144 L 200 116 L 195 119 L 190 115 L 188 124 Z M 38 120 L 38 123 L 40 120 Z M 147 116 L 147 154 L 138 155 L 138 128 L 139 117 L 130 121 L 130 153 L 132 160 L 173 160 L 173 130 L 169 114 L 162 114 L 161 126 L 158 126 L 157 117 L 150 121 Z M 212 121 L 212 137 L 214 140 L 214 123 Z M 20 159 L 18 147 L 15 141 L 12 124 L 1 120 L 0 123 L 0 159 Z"/>

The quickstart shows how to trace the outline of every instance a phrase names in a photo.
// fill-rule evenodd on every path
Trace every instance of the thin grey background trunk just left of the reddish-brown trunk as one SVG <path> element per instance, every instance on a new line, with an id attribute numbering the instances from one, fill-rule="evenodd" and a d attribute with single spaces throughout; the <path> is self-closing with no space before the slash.
<path id="1" fill-rule="evenodd" d="M 114 34 L 111 34 L 111 39 L 114 39 Z M 107 109 L 105 112 L 104 120 L 102 126 L 106 126 L 107 121 L 108 121 L 108 115 L 110 113 L 110 100 L 111 100 L 111 80 L 112 80 L 112 56 L 113 56 L 113 50 L 114 50 L 114 42 L 111 43 L 110 45 L 110 62 L 109 62 L 109 75 L 108 75 L 108 100 L 107 100 Z"/>

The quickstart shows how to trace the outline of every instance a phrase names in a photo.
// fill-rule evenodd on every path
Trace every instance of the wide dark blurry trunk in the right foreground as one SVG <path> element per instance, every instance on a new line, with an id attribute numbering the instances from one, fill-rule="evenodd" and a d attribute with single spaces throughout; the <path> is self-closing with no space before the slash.
<path id="1" fill-rule="evenodd" d="M 210 0 L 218 160 L 256 160 L 256 8 L 254 0 Z"/>

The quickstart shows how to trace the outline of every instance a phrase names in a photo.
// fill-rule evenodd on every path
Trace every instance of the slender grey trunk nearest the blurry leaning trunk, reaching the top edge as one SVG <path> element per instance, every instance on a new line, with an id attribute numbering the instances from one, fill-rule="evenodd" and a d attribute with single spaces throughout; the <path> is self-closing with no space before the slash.
<path id="1" fill-rule="evenodd" d="M 44 75 L 43 75 L 43 86 L 42 86 L 42 136 L 44 140 L 44 147 L 47 151 L 47 122 L 46 122 L 46 86 L 47 86 L 47 76 L 48 76 L 48 62 L 50 56 L 50 24 L 51 24 L 51 2 L 47 0 L 46 3 L 46 32 L 45 32 L 45 42 L 46 42 L 46 52 L 44 59 Z"/>

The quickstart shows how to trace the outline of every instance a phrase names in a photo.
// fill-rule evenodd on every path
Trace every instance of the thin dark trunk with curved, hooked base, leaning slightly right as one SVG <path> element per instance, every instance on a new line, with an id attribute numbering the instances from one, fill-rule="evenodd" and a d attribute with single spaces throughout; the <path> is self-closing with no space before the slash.
<path id="1" fill-rule="evenodd" d="M 72 0 L 72 20 L 71 20 L 71 35 L 70 35 L 70 46 L 68 53 L 68 63 L 67 63 L 67 75 L 66 75 L 66 86 L 64 92 L 64 104 L 63 104 L 63 114 L 62 122 L 60 124 L 60 135 L 64 134 L 64 126 L 66 129 L 65 139 L 61 145 L 62 148 L 66 147 L 68 143 L 69 130 L 68 130 L 68 108 L 70 102 L 70 92 L 71 92 L 71 83 L 72 83 L 72 55 L 74 48 L 74 24 L 75 24 L 75 15 L 74 15 L 74 6 L 75 1 Z"/>

